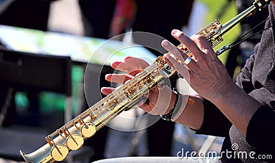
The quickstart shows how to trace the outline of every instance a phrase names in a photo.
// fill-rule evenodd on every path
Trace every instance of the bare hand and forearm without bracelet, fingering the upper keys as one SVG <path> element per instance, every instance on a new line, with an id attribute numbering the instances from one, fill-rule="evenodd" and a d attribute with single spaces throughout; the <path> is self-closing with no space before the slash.
<path id="1" fill-rule="evenodd" d="M 232 124 L 246 136 L 248 123 L 254 112 L 260 108 L 261 103 L 252 99 L 232 82 L 225 66 L 217 58 L 206 38 L 203 36 L 188 38 L 183 32 L 176 29 L 173 30 L 172 35 L 186 45 L 193 55 L 192 60 L 188 65 L 177 62 L 175 58 L 184 62 L 188 55 L 175 49 L 175 46 L 167 40 L 162 42 L 162 46 L 173 53 L 175 58 L 167 53 L 164 55 L 164 59 L 173 65 L 183 77 L 189 77 L 190 86 L 201 97 L 214 103 Z"/>

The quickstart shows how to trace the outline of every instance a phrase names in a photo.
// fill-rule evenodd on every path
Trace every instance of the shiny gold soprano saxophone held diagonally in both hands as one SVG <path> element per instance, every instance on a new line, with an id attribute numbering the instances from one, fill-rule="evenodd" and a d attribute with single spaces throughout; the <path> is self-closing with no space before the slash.
<path id="1" fill-rule="evenodd" d="M 256 9 L 263 10 L 271 0 L 255 0 L 253 5 L 241 14 L 235 16 L 230 21 L 221 25 L 215 20 L 210 25 L 203 28 L 197 34 L 203 35 L 208 39 L 212 47 L 218 45 L 223 39 L 221 36 L 228 32 L 243 18 L 253 14 Z M 192 54 L 184 45 L 179 45 L 179 49 L 185 53 Z M 217 53 L 219 55 L 219 51 Z M 175 69 L 160 56 L 150 66 L 144 68 L 133 79 L 117 88 L 107 97 L 98 101 L 91 108 L 76 116 L 76 118 L 66 123 L 61 128 L 54 131 L 45 138 L 46 144 L 36 151 L 25 154 L 20 151 L 25 162 L 58 162 L 64 160 L 69 151 L 76 151 L 83 146 L 87 138 L 91 138 L 96 131 L 111 121 L 115 116 L 125 110 L 133 108 L 140 102 L 155 86 L 164 79 L 176 73 Z"/>

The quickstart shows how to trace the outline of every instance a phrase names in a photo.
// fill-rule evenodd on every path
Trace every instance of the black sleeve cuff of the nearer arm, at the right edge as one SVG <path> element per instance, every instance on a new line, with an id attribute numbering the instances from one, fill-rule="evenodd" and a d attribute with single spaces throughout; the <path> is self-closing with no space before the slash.
<path id="1" fill-rule="evenodd" d="M 246 131 L 247 142 L 265 154 L 274 154 L 275 139 L 270 131 L 274 129 L 275 112 L 267 105 L 261 106 L 248 124 Z"/>

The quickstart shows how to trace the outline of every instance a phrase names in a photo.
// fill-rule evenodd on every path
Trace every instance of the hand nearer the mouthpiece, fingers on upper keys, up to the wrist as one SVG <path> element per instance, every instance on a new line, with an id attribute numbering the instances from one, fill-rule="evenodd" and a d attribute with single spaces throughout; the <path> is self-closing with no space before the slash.
<path id="1" fill-rule="evenodd" d="M 172 31 L 172 36 L 186 46 L 188 51 L 192 53 L 192 58 L 188 58 L 186 53 L 177 49 L 168 40 L 164 40 L 162 47 L 174 55 L 166 53 L 164 59 L 188 80 L 190 86 L 201 97 L 212 101 L 216 96 L 220 96 L 234 87 L 225 66 L 217 58 L 206 38 L 203 36 L 189 38 L 177 29 Z M 184 62 L 187 58 L 191 60 L 186 65 Z"/>

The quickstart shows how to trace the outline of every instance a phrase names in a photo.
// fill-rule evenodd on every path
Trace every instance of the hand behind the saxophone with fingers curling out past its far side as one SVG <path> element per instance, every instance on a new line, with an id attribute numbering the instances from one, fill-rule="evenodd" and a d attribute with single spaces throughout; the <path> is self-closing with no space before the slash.
<path id="1" fill-rule="evenodd" d="M 123 71 L 126 74 L 108 74 L 105 76 L 105 79 L 109 82 L 115 82 L 118 84 L 124 84 L 130 79 L 133 79 L 135 75 L 140 73 L 144 68 L 146 68 L 149 64 L 140 58 L 126 57 L 124 62 L 113 62 L 111 67 Z M 109 95 L 113 92 L 115 88 L 101 88 L 101 92 L 104 95 Z M 148 99 L 148 103 L 142 101 L 138 104 L 142 110 L 148 112 L 150 114 L 165 114 L 170 108 L 170 99 L 174 98 L 175 95 L 172 96 L 172 90 L 168 86 L 164 86 L 162 90 L 159 90 L 157 87 L 153 88 L 148 95 L 146 96 Z M 173 104 L 171 104 L 173 106 Z"/>

